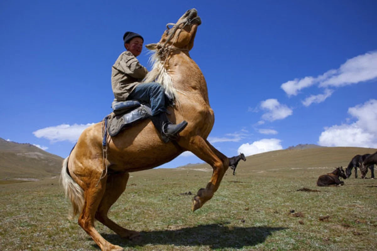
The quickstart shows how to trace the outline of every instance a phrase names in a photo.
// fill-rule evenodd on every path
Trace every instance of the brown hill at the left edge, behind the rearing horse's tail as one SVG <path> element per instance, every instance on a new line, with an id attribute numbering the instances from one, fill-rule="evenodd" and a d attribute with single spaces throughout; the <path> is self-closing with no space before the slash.
<path id="1" fill-rule="evenodd" d="M 60 173 L 63 158 L 29 143 L 0 138 L 0 180 L 46 178 Z"/>

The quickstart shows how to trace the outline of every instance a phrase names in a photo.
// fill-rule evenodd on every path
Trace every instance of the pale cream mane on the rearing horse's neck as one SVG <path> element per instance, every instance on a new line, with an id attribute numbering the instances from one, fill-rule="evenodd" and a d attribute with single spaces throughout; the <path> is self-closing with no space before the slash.
<path id="1" fill-rule="evenodd" d="M 164 87 L 169 99 L 178 102 L 177 90 L 173 85 L 172 76 L 167 73 L 164 67 L 165 61 L 162 61 L 161 55 L 156 52 L 157 50 L 151 51 L 152 55 L 149 57 L 149 64 L 152 64 L 152 70 L 147 73 L 143 83 L 158 82 Z"/>

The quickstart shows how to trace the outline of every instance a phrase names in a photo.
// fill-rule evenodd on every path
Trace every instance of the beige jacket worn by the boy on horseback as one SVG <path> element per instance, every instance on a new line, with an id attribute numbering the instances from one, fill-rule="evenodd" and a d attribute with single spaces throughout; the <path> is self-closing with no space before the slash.
<path id="1" fill-rule="evenodd" d="M 147 73 L 148 70 L 131 52 L 125 51 L 119 55 L 111 71 L 111 86 L 115 99 L 126 100 L 136 85 L 141 84 Z"/>

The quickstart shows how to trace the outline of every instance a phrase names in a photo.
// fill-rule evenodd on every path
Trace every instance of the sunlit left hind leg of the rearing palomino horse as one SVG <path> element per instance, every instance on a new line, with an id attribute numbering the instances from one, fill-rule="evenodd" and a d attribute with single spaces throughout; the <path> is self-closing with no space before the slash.
<path id="1" fill-rule="evenodd" d="M 116 246 L 105 240 L 94 228 L 94 218 L 98 205 L 106 190 L 107 177 L 101 179 L 98 184 L 97 181 L 100 178 L 101 173 L 86 177 L 84 184 L 89 184 L 84 189 L 84 207 L 78 218 L 78 224 L 89 234 L 90 237 L 100 246 L 103 251 L 120 251 L 123 250 L 120 246 Z"/>

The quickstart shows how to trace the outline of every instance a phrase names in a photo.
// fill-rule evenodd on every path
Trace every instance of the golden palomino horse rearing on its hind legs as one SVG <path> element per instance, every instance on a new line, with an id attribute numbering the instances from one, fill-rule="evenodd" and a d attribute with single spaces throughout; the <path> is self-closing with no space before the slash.
<path id="1" fill-rule="evenodd" d="M 156 79 L 175 97 L 175 106 L 169 107 L 170 121 L 189 123 L 180 137 L 163 143 L 159 132 L 147 119 L 109 138 L 107 151 L 103 151 L 104 123 L 101 122 L 83 131 L 64 160 L 61 178 L 72 202 L 73 215 L 79 214 L 78 224 L 102 250 L 123 249 L 107 242 L 97 232 L 95 219 L 121 237 L 139 237 L 138 232 L 127 230 L 107 217 L 110 207 L 126 189 L 129 172 L 152 169 L 184 151 L 193 152 L 213 167 L 209 183 L 193 198 L 192 210 L 195 211 L 212 198 L 228 169 L 228 158 L 207 141 L 214 114 L 204 76 L 189 55 L 200 24 L 197 11 L 191 9 L 176 24 L 168 24 L 173 27 L 162 34 L 158 43 L 146 46 L 155 54 L 152 71 L 145 82 Z"/>

